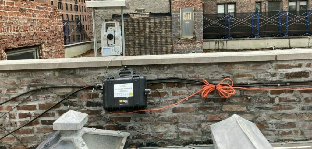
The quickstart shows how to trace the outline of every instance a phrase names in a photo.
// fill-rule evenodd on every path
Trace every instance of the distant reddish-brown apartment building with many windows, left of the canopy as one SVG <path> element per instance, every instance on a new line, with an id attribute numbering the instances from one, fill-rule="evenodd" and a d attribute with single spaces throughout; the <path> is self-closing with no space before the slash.
<path id="1" fill-rule="evenodd" d="M 36 2 L 54 5 L 62 13 L 62 20 L 68 20 L 69 32 L 81 27 L 80 32 L 72 32 L 67 39 L 71 43 L 88 40 L 88 11 L 85 7 L 85 0 L 35 0 Z M 73 22 L 74 21 L 74 22 Z M 81 26 L 77 26 L 75 21 L 81 21 Z M 76 27 L 77 26 L 77 27 Z M 64 37 L 66 38 L 66 37 Z M 66 41 L 65 41 L 66 42 Z"/>

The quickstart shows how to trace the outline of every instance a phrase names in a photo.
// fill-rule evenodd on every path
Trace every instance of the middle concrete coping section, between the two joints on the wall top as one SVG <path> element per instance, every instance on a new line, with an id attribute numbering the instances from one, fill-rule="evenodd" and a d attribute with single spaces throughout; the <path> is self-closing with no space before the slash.
<path id="1" fill-rule="evenodd" d="M 152 64 L 219 63 L 219 62 L 248 62 L 248 61 L 272 61 L 272 60 L 275 60 L 275 54 L 271 54 L 266 51 L 249 51 L 249 52 L 126 56 L 122 60 L 122 64 L 152 65 Z"/>

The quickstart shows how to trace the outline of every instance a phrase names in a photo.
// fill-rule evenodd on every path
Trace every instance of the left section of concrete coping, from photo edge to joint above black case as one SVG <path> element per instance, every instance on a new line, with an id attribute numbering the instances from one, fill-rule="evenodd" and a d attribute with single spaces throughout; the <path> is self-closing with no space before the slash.
<path id="1" fill-rule="evenodd" d="M 8 60 L 0 61 L 0 70 L 106 67 L 113 58 L 115 57 Z M 116 57 L 109 66 L 122 66 L 122 58 L 123 56 Z"/>

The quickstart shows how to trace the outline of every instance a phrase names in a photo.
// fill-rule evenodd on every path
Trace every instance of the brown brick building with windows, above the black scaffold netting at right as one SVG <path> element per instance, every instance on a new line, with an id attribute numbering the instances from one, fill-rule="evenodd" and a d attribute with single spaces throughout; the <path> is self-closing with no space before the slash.
<path id="1" fill-rule="evenodd" d="M 204 0 L 204 14 L 251 13 L 312 9 L 311 0 Z"/>

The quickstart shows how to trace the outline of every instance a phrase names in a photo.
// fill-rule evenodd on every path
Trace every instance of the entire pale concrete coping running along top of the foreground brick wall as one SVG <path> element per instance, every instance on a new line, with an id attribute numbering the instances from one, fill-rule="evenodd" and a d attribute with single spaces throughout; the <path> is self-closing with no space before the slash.
<path id="1" fill-rule="evenodd" d="M 127 65 L 254 62 L 312 59 L 312 49 L 219 52 L 197 54 L 138 55 L 117 57 L 51 58 L 0 61 L 2 70 L 92 68 Z"/>

